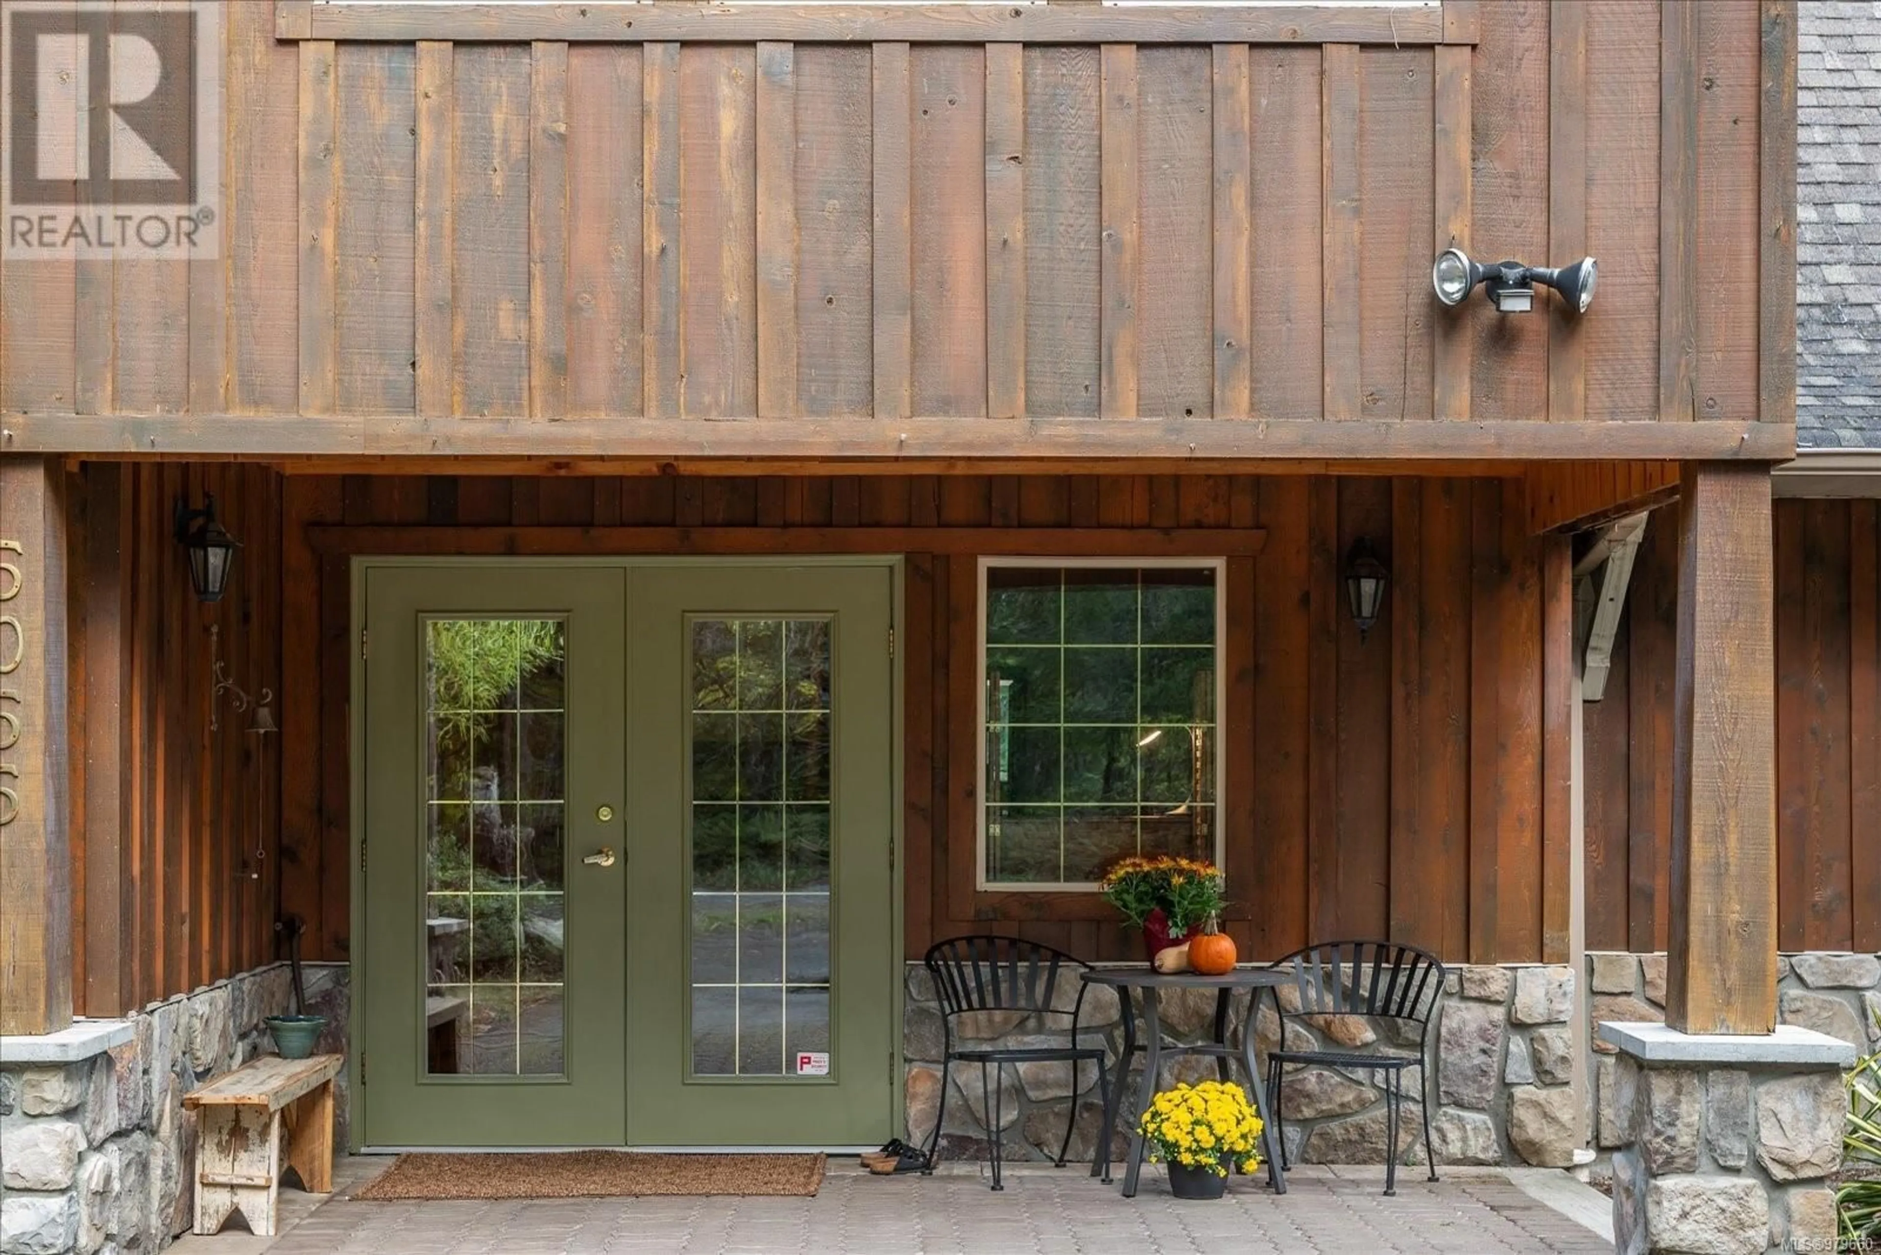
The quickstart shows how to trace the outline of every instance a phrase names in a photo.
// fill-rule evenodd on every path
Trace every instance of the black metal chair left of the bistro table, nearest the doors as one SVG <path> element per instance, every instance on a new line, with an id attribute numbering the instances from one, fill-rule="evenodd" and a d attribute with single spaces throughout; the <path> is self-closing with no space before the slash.
<path id="1" fill-rule="evenodd" d="M 1070 1116 L 1065 1121 L 1065 1140 L 1059 1144 L 1057 1155 L 1057 1167 L 1063 1168 L 1065 1153 L 1070 1150 L 1070 1133 L 1078 1123 L 1078 1065 L 1097 1063 L 1097 1091 L 1110 1093 L 1104 1063 L 1106 1052 L 1102 1042 L 1097 1046 L 1078 1044 L 1078 1016 L 1083 1014 L 1085 992 L 1082 973 L 1091 971 L 1091 965 L 1036 941 L 993 935 L 948 937 L 946 941 L 937 941 L 927 950 L 925 963 L 927 975 L 935 982 L 935 997 L 940 1003 L 942 1056 L 940 1110 L 935 1112 L 935 1127 L 933 1133 L 927 1135 L 927 1167 L 922 1168 L 922 1176 L 933 1174 L 935 1159 L 940 1153 L 940 1129 L 946 1125 L 948 1069 L 956 1061 L 980 1065 L 980 1103 L 986 1108 L 991 1125 L 988 1133 L 991 1135 L 993 1189 L 1004 1189 L 999 1167 L 1003 1157 L 1001 1125 L 1004 1123 L 1003 1089 L 1006 1065 L 1070 1063 L 1072 1103 Z M 1076 984 L 1076 997 L 1072 999 L 1070 1010 L 1061 1010 L 1057 1007 L 1061 992 L 1067 988 L 1063 982 Z M 1038 1016 L 1046 1020 L 1048 1025 L 1068 1020 L 1070 1044 L 988 1044 L 957 1050 L 954 1046 L 954 1022 L 959 1016 L 976 1012 L 1025 1012 L 1025 1016 Z M 995 1069 L 1001 1084 L 989 1084 L 988 1065 Z M 1108 1182 L 1110 1178 L 1106 1176 L 1104 1180 Z"/>

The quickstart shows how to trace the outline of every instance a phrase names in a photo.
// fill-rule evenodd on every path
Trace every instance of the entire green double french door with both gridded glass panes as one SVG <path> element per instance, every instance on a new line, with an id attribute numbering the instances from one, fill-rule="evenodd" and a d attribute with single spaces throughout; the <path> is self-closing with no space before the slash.
<path id="1" fill-rule="evenodd" d="M 369 564 L 359 1144 L 893 1131 L 892 572 Z"/>

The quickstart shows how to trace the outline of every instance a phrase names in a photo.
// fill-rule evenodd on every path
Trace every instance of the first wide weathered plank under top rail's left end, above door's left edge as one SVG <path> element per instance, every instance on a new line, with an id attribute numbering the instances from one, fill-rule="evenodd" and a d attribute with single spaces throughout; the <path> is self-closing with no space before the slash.
<path id="1" fill-rule="evenodd" d="M 389 43 L 339 49 L 333 305 L 335 408 L 410 414 L 416 346 L 416 55 Z"/>

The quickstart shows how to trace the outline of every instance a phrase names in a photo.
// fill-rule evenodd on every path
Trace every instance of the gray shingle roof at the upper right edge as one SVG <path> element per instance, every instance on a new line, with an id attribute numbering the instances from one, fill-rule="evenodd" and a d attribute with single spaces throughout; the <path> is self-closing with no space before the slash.
<path id="1" fill-rule="evenodd" d="M 1796 51 L 1796 442 L 1881 448 L 1881 0 L 1804 0 Z"/>

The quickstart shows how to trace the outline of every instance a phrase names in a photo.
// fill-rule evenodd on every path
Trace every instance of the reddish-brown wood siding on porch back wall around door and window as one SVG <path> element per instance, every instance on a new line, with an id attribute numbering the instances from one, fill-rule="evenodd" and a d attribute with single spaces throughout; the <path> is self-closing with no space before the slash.
<path id="1" fill-rule="evenodd" d="M 284 491 L 282 898 L 314 922 L 310 958 L 348 954 L 344 529 L 384 548 L 397 527 L 594 525 L 781 529 L 766 555 L 803 546 L 792 529 L 831 551 L 880 527 L 986 529 L 986 553 L 1025 529 L 1142 529 L 1146 546 L 1159 529 L 1264 529 L 1257 557 L 1228 561 L 1223 643 L 1243 954 L 1390 935 L 1456 960 L 1565 960 L 1567 796 L 1544 781 L 1567 771 L 1567 655 L 1539 642 L 1544 623 L 1567 640 L 1567 551 L 1529 536 L 1520 480 L 290 476 Z M 1394 580 L 1364 642 L 1339 574 L 1358 536 Z M 909 555 L 907 954 L 991 929 L 1127 958 L 1140 943 L 1097 896 L 974 890 L 974 572 L 971 553 Z"/>

